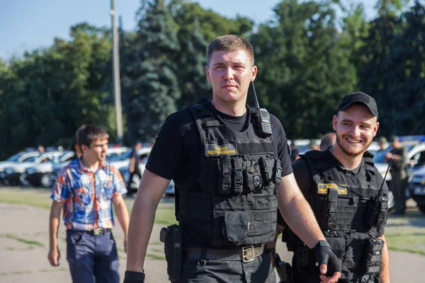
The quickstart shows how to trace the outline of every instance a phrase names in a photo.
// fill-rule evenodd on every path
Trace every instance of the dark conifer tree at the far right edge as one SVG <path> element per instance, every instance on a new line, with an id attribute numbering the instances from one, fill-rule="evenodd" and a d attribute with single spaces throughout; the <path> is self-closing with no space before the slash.
<path id="1" fill-rule="evenodd" d="M 396 35 L 386 60 L 390 71 L 390 134 L 424 134 L 425 122 L 425 7 L 419 1 L 403 14 L 405 27 Z"/>

